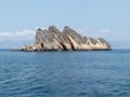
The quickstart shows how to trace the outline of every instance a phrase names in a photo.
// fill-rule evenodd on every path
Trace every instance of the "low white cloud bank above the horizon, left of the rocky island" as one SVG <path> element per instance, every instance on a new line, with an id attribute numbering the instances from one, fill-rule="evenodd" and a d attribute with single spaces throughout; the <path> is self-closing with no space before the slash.
<path id="1" fill-rule="evenodd" d="M 0 32 L 1 48 L 21 48 L 23 44 L 34 44 L 35 30 L 22 30 L 15 32 Z"/>

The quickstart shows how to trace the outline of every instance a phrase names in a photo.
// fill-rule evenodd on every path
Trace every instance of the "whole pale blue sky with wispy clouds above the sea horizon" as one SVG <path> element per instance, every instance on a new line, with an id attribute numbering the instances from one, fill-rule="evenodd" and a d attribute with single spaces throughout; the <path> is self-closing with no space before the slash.
<path id="1" fill-rule="evenodd" d="M 0 48 L 32 44 L 52 25 L 130 48 L 130 0 L 0 0 Z"/>

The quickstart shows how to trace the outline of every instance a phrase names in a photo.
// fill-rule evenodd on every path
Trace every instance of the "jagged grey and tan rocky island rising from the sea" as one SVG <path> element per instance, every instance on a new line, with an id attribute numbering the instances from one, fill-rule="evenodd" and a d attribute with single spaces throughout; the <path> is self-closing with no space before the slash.
<path id="1" fill-rule="evenodd" d="M 98 40 L 80 36 L 74 29 L 65 26 L 60 31 L 55 26 L 48 29 L 37 29 L 34 45 L 24 45 L 22 51 L 90 51 L 112 50 L 110 44 L 103 38 Z"/>

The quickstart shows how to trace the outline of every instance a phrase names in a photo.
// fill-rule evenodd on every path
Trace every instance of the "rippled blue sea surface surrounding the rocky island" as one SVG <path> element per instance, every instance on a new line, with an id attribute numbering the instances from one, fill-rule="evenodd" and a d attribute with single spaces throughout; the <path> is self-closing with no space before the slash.
<path id="1" fill-rule="evenodd" d="M 130 50 L 1 50 L 0 97 L 130 97 Z"/>

